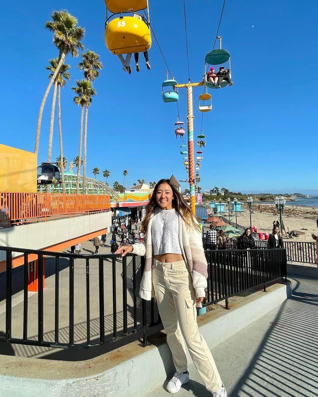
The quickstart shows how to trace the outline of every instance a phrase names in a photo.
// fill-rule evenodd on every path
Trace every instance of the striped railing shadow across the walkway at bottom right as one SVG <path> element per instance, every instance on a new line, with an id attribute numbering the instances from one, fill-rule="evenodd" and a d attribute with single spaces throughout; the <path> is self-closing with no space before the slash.
<path id="1" fill-rule="evenodd" d="M 318 396 L 318 283 L 295 277 L 258 351 L 229 397 Z"/>

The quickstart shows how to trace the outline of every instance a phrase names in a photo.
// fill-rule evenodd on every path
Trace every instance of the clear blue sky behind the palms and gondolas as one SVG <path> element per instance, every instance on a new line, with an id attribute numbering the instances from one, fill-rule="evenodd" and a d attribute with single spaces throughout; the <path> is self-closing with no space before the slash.
<path id="1" fill-rule="evenodd" d="M 168 66 L 175 79 L 188 79 L 182 0 L 149 0 L 150 17 Z M 213 46 L 223 1 L 214 0 L 208 14 L 206 1 L 186 0 L 190 77 L 200 81 L 204 57 Z M 89 6 L 84 6 L 89 4 Z M 2 4 L 1 140 L 5 145 L 33 151 L 37 115 L 48 83 L 45 66 L 57 56 L 52 35 L 44 29 L 53 10 L 66 9 L 85 27 L 85 48 L 101 55 L 103 70 L 94 83 L 97 96 L 88 114 L 87 174 L 97 166 L 111 171 L 109 182 L 127 185 L 137 179 L 157 181 L 173 172 L 186 173 L 175 139 L 176 105 L 164 104 L 161 82 L 165 64 L 155 40 L 149 58 L 151 71 L 140 57 L 140 73 L 128 75 L 104 44 L 105 6 L 102 0 L 75 0 Z M 213 13 L 213 10 L 215 13 Z M 234 84 L 211 90 L 213 109 L 204 114 L 206 135 L 200 171 L 203 190 L 213 186 L 231 191 L 311 191 L 317 188 L 317 82 L 318 63 L 314 0 L 243 2 L 227 0 L 219 35 L 231 54 Z M 252 27 L 254 25 L 254 28 Z M 64 156 L 78 155 L 80 108 L 70 87 L 82 77 L 68 57 L 71 81 L 62 91 Z M 132 62 L 133 66 L 133 62 Z M 194 135 L 200 133 L 201 114 L 194 94 Z M 52 93 L 51 93 L 52 94 Z M 47 160 L 51 106 L 49 95 L 41 127 L 38 162 Z M 186 91 L 180 90 L 181 119 L 186 121 Z M 52 158 L 59 155 L 57 120 Z M 98 175 L 99 179 L 103 177 Z M 186 188 L 186 184 L 182 184 Z"/>

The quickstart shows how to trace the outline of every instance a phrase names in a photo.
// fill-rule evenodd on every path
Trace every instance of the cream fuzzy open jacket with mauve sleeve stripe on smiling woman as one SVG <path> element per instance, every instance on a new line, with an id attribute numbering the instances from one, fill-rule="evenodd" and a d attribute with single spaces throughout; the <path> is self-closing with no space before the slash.
<path id="1" fill-rule="evenodd" d="M 192 283 L 196 291 L 196 297 L 205 297 L 205 288 L 207 287 L 207 261 L 204 255 L 202 245 L 202 236 L 200 231 L 194 226 L 189 227 L 178 215 L 179 219 L 179 242 L 182 256 L 186 262 L 186 266 L 192 276 Z M 152 279 L 151 266 L 153 262 L 152 253 L 152 236 L 151 225 L 153 216 L 149 220 L 147 227 L 147 235 L 144 243 L 134 244 L 133 253 L 139 256 L 145 256 L 145 270 L 143 272 L 142 281 L 140 283 L 139 295 L 142 299 L 150 301 L 155 296 Z"/>

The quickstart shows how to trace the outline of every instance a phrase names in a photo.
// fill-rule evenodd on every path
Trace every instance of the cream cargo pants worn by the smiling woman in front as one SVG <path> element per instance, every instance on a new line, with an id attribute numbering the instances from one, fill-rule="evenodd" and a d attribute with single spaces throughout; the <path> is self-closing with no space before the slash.
<path id="1" fill-rule="evenodd" d="M 183 260 L 161 263 L 154 259 L 152 282 L 176 370 L 188 370 L 185 340 L 206 388 L 211 392 L 219 390 L 222 386 L 219 372 L 207 343 L 198 330 L 196 296 L 186 264 Z"/>

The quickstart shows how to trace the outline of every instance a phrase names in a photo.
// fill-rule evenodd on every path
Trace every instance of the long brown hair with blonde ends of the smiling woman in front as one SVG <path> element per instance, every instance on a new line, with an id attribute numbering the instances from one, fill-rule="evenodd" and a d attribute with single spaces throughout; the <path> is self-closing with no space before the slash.
<path id="1" fill-rule="evenodd" d="M 186 225 L 188 225 L 189 227 L 194 225 L 198 229 L 198 231 L 201 232 L 200 226 L 198 225 L 198 222 L 196 222 L 196 218 L 194 218 L 194 215 L 192 214 L 192 211 L 190 210 L 188 204 L 186 203 L 182 195 L 179 193 L 179 191 L 176 189 L 176 187 L 171 183 L 170 179 L 160 179 L 157 185 L 155 185 L 155 189 L 153 189 L 153 193 L 150 198 L 150 201 L 146 206 L 145 217 L 142 220 L 142 231 L 145 234 L 147 233 L 149 220 L 152 214 L 154 214 L 156 208 L 159 207 L 156 196 L 157 196 L 158 187 L 159 185 L 161 185 L 161 183 L 167 183 L 171 187 L 172 196 L 173 196 L 172 206 L 173 208 L 175 208 L 176 212 L 178 212 L 178 214 L 182 217 Z"/>

